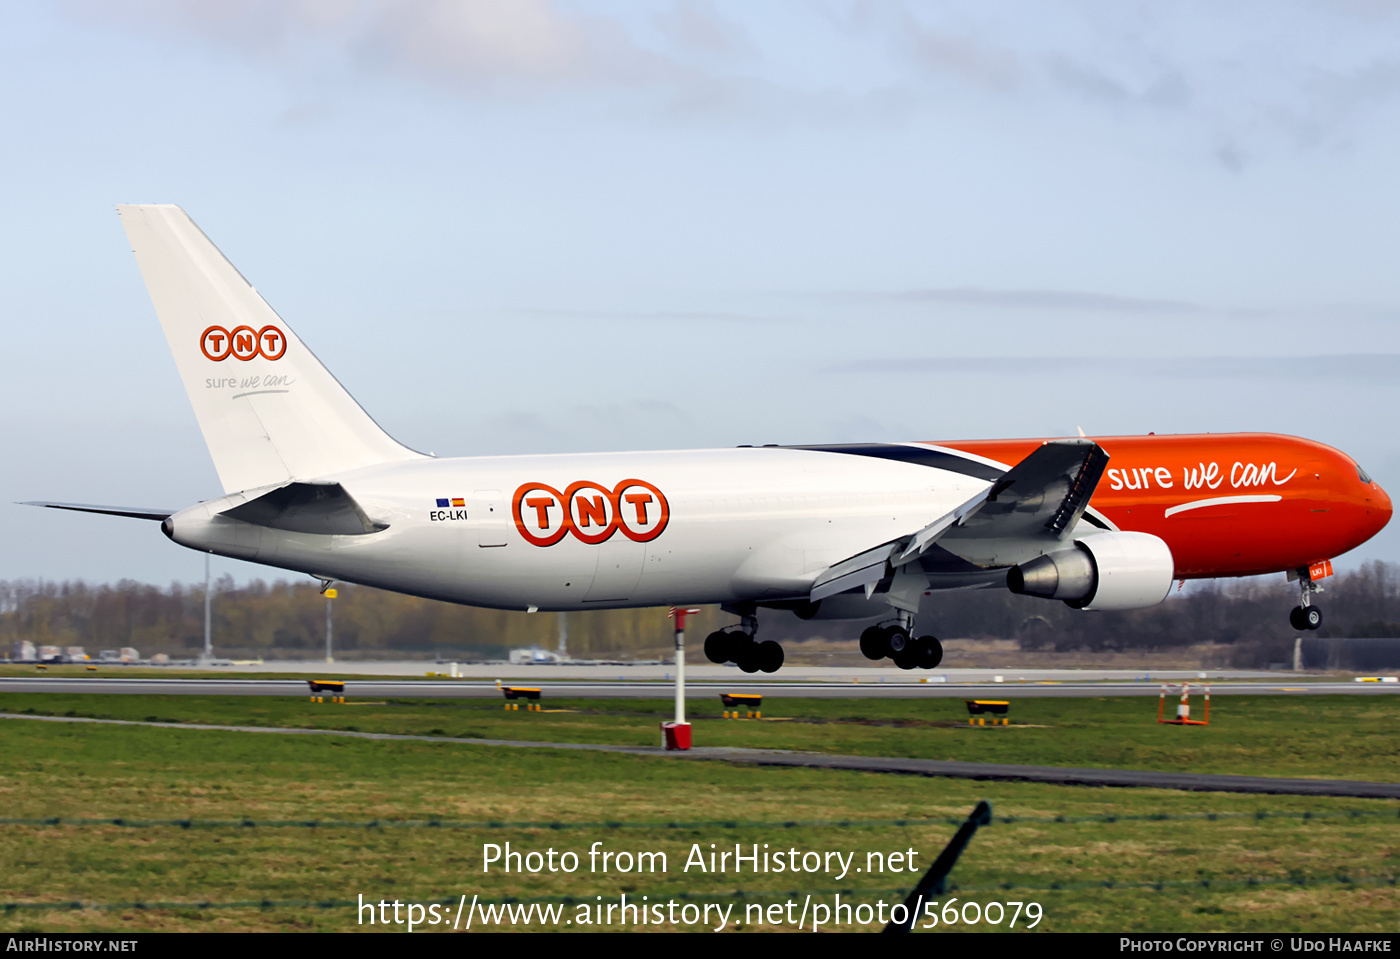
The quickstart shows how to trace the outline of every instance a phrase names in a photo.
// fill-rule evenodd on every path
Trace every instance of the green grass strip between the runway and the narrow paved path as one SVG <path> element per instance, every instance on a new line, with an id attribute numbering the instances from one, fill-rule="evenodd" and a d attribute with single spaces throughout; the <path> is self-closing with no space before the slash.
<path id="1" fill-rule="evenodd" d="M 725 721 L 718 697 L 689 704 L 696 745 L 1400 781 L 1400 696 L 1217 696 L 1212 724 L 1189 728 L 1158 725 L 1154 697 L 1022 699 L 1009 714 L 1018 725 L 976 729 L 958 699 L 769 697 L 764 706 L 763 721 Z M 4 713 L 645 746 L 672 715 L 666 700 L 545 707 L 573 711 L 505 713 L 497 700 L 461 699 L 339 706 L 272 696 L 0 693 Z"/>

